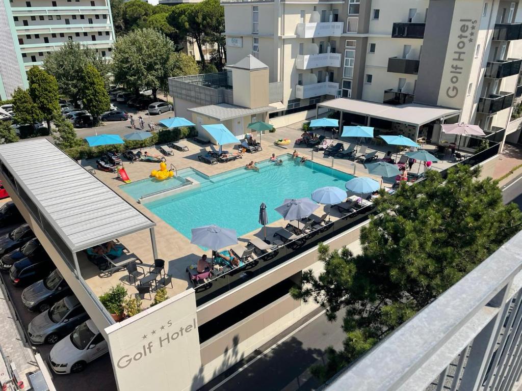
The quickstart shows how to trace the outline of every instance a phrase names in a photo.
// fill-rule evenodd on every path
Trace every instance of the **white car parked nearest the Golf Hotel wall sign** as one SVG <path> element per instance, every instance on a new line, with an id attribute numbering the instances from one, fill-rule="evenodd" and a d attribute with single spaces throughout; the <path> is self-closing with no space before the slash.
<path id="1" fill-rule="evenodd" d="M 49 353 L 49 361 L 55 373 L 78 373 L 89 362 L 106 353 L 109 353 L 109 346 L 94 322 L 88 320 L 54 345 Z"/>

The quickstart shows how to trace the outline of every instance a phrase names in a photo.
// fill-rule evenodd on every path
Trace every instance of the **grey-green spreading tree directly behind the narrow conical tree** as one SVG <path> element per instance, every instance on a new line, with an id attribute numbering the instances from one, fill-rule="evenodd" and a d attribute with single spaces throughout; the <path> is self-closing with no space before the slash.
<path id="1" fill-rule="evenodd" d="M 58 82 L 58 91 L 72 99 L 78 107 L 81 97 L 84 68 L 91 64 L 98 69 L 105 87 L 109 86 L 109 64 L 94 49 L 81 46 L 78 42 L 66 41 L 60 50 L 51 52 L 43 60 L 43 67 Z"/>

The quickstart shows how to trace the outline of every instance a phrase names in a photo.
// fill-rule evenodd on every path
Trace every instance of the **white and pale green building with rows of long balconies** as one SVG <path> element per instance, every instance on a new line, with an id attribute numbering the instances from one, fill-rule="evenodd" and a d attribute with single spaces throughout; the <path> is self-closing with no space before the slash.
<path id="1" fill-rule="evenodd" d="M 2 0 L 0 3 L 0 98 L 27 87 L 26 70 L 67 40 L 110 58 L 115 35 L 109 0 Z"/>

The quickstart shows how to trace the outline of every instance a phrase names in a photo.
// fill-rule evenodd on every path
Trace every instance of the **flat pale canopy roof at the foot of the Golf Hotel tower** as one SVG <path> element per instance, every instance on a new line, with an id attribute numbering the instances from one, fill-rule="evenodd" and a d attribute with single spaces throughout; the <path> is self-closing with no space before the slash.
<path id="1" fill-rule="evenodd" d="M 452 117 L 460 113 L 459 109 L 428 106 L 417 103 L 393 106 L 384 103 L 366 102 L 347 98 L 333 99 L 331 101 L 318 103 L 317 106 L 413 126 L 421 126 L 435 119 Z"/>

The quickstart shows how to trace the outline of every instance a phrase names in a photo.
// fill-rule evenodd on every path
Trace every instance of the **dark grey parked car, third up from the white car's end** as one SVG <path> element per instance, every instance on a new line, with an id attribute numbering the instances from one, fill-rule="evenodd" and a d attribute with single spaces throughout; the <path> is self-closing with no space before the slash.
<path id="1" fill-rule="evenodd" d="M 56 269 L 44 279 L 22 291 L 22 303 L 29 311 L 47 311 L 56 301 L 72 294 L 60 272 Z"/>

